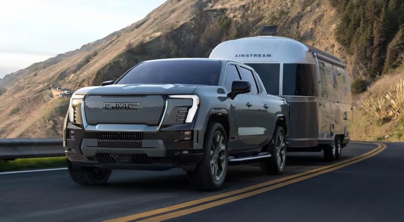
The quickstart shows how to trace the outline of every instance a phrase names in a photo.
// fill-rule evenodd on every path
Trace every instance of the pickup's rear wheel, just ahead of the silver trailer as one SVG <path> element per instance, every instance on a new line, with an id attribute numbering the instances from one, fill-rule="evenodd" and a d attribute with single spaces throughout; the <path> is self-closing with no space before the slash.
<path id="1" fill-rule="evenodd" d="M 272 156 L 261 160 L 260 166 L 264 174 L 282 175 L 286 165 L 286 137 L 284 128 L 275 128 L 274 145 L 269 152 Z"/>

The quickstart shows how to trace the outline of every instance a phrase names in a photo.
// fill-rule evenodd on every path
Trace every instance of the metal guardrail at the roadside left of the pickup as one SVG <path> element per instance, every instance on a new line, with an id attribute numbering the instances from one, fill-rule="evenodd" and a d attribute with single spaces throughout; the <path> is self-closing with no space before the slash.
<path id="1" fill-rule="evenodd" d="M 63 139 L 0 139 L 0 159 L 64 156 Z"/>

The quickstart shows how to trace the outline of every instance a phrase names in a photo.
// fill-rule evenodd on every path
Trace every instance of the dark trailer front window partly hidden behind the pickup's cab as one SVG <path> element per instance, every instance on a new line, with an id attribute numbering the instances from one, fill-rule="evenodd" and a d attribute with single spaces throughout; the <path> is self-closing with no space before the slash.
<path id="1" fill-rule="evenodd" d="M 248 63 L 246 64 L 258 73 L 266 92 L 272 95 L 279 95 L 279 69 L 280 64 L 276 63 Z"/>

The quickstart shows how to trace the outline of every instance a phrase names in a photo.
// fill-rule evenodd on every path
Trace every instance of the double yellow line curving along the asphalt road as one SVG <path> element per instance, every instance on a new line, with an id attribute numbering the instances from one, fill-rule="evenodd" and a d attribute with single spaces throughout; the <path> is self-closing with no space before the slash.
<path id="1" fill-rule="evenodd" d="M 277 189 L 292 183 L 296 183 L 305 179 L 313 178 L 328 172 L 338 170 L 340 168 L 352 165 L 359 161 L 368 159 L 372 156 L 378 155 L 384 149 L 386 149 L 385 144 L 377 143 L 378 147 L 363 154 L 350 159 L 346 159 L 334 164 L 319 167 L 313 170 L 309 170 L 303 173 L 287 176 L 284 178 L 274 179 L 267 182 L 259 183 L 256 185 L 248 186 L 242 189 L 225 192 L 222 194 L 198 199 L 191 200 L 188 202 L 155 209 L 151 211 L 146 211 L 134 215 L 129 215 L 117 219 L 110 220 L 108 222 L 128 222 L 140 220 L 142 222 L 155 222 L 155 221 L 165 221 L 172 218 L 184 216 L 187 214 L 195 213 L 198 211 L 206 210 L 215 206 L 219 206 L 225 203 L 233 202 L 236 200 L 241 200 L 247 197 L 251 197 L 263 192 Z M 143 219 L 143 220 L 142 220 Z"/>

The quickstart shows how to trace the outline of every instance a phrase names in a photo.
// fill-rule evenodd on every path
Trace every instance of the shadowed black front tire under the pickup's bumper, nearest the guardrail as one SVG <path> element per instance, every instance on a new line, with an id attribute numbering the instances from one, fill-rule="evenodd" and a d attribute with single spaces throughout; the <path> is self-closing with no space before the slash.
<path id="1" fill-rule="evenodd" d="M 71 179 L 80 185 L 103 185 L 112 173 L 108 169 L 75 166 L 69 159 L 67 165 Z"/>

